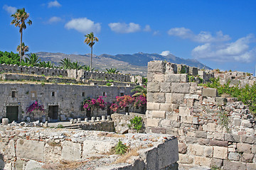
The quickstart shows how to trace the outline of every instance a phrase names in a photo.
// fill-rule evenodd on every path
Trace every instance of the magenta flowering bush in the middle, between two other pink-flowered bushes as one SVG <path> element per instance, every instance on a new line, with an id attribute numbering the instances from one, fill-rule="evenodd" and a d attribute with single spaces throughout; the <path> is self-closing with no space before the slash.
<path id="1" fill-rule="evenodd" d="M 88 109 L 90 111 L 90 108 L 105 108 L 106 103 L 102 99 L 102 96 L 99 96 L 97 99 L 95 98 L 86 98 L 85 101 L 82 102 L 82 108 Z"/>

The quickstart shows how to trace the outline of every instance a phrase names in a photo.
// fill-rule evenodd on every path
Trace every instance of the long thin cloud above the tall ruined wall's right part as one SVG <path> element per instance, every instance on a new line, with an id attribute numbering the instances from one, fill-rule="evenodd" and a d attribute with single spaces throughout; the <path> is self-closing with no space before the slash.
<path id="1" fill-rule="evenodd" d="M 210 32 L 201 31 L 199 34 L 194 34 L 188 28 L 171 28 L 168 32 L 169 35 L 174 35 L 183 39 L 190 39 L 194 42 L 221 42 L 230 40 L 229 35 L 223 35 L 222 31 L 218 31 L 215 36 Z"/>

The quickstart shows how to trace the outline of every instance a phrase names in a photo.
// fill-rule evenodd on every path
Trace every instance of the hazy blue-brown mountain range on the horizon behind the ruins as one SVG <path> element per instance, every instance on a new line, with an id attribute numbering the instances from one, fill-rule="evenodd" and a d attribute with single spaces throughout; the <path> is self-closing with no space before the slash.
<path id="1" fill-rule="evenodd" d="M 90 54 L 87 55 L 67 55 L 63 53 L 53 52 L 37 52 L 36 55 L 41 61 L 52 61 L 56 65 L 64 58 L 70 58 L 72 62 L 80 62 L 85 65 L 90 65 Z M 159 55 L 159 54 L 147 54 L 139 52 L 133 55 L 93 55 L 92 67 L 99 69 L 99 71 L 105 71 L 109 68 L 117 68 L 124 74 L 141 74 L 146 75 L 147 63 L 152 60 L 165 60 L 176 64 L 186 64 L 191 67 L 198 67 L 204 69 L 210 69 L 206 65 L 198 62 L 197 60 L 183 59 L 174 55 Z"/>

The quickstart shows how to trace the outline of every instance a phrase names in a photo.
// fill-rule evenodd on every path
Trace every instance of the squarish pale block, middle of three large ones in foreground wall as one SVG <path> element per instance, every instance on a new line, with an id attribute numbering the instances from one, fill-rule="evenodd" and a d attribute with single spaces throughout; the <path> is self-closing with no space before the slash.
<path id="1" fill-rule="evenodd" d="M 67 161 L 76 161 L 81 159 L 82 147 L 79 143 L 64 141 L 61 142 L 61 146 L 63 147 L 61 152 L 61 159 Z"/>

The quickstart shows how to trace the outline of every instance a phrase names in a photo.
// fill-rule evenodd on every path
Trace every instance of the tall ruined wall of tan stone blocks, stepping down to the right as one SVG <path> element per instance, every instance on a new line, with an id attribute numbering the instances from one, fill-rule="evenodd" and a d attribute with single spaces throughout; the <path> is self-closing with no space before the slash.
<path id="1" fill-rule="evenodd" d="M 179 163 L 256 169 L 255 120 L 242 102 L 188 82 L 161 61 L 148 64 L 147 91 L 146 130 L 176 135 Z"/>

